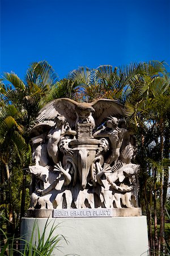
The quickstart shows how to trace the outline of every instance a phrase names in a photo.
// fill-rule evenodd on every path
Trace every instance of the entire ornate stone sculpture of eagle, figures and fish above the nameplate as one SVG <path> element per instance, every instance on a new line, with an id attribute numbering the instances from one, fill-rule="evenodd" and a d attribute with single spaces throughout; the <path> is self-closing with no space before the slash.
<path id="1" fill-rule="evenodd" d="M 115 100 L 46 104 L 30 133 L 30 209 L 138 207 L 137 145 L 123 118 Z"/>

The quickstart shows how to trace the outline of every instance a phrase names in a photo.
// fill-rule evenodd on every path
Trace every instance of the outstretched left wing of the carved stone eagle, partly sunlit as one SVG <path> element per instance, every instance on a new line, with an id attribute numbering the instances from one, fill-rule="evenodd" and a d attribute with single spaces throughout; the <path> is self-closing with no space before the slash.
<path id="1" fill-rule="evenodd" d="M 52 120 L 57 117 L 58 114 L 61 114 L 66 118 L 67 122 L 69 122 L 70 126 L 74 127 L 76 121 L 76 105 L 77 102 L 70 98 L 58 98 L 50 101 L 40 110 L 36 121 Z"/>

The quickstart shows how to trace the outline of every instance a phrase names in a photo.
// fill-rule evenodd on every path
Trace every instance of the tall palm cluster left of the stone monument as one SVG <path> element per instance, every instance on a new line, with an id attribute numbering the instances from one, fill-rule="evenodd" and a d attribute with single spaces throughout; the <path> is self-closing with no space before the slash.
<path id="1" fill-rule="evenodd" d="M 1 184 L 7 179 L 10 195 L 10 221 L 14 221 L 14 207 L 12 208 L 12 175 L 18 165 L 18 170 L 25 170 L 31 161 L 29 146 L 29 131 L 37 117 L 40 108 L 45 104 L 52 87 L 57 83 L 57 75 L 46 62 L 33 63 L 28 68 L 24 81 L 14 73 L 5 73 L 4 79 L 10 85 L 0 84 L 3 104 L 0 108 L 0 147 L 1 147 Z M 25 171 L 22 175 L 22 200 L 19 216 L 24 216 Z M 18 218 L 19 218 L 18 216 Z"/>

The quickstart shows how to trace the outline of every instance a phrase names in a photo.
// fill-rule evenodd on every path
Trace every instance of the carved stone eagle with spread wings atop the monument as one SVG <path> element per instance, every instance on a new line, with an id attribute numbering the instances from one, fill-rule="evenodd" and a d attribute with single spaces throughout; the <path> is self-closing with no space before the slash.
<path id="1" fill-rule="evenodd" d="M 50 101 L 39 112 L 37 122 L 52 120 L 57 115 L 63 115 L 70 127 L 75 127 L 77 122 L 91 122 L 95 127 L 100 125 L 109 115 L 114 117 L 124 116 L 124 106 L 116 100 L 100 99 L 90 103 L 76 102 L 70 98 L 59 98 Z"/>

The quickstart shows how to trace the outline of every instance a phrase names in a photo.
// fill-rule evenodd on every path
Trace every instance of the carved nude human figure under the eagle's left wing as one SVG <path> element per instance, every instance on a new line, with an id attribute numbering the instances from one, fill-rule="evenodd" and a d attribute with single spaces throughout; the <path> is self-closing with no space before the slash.
<path id="1" fill-rule="evenodd" d="M 47 151 L 55 164 L 59 162 L 58 143 L 60 139 L 66 134 L 76 135 L 76 131 L 71 130 L 69 123 L 66 122 L 65 117 L 58 115 L 56 117 L 56 125 L 49 131 L 47 135 Z"/>

